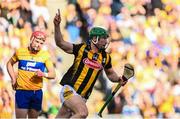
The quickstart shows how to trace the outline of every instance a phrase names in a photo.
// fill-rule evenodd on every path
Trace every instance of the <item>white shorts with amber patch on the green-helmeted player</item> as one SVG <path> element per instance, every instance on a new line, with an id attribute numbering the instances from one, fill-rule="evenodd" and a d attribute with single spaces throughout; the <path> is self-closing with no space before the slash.
<path id="1" fill-rule="evenodd" d="M 65 100 L 75 95 L 80 96 L 78 93 L 76 93 L 76 91 L 71 86 L 64 85 L 60 92 L 60 99 L 61 99 L 62 104 L 64 103 Z"/>

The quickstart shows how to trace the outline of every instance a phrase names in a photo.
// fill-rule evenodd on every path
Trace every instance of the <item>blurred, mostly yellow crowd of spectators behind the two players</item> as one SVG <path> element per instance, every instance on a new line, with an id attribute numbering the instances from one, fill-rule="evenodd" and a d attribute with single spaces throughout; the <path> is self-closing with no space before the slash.
<path id="1" fill-rule="evenodd" d="M 61 106 L 59 81 L 73 56 L 55 46 L 53 18 L 59 8 L 65 40 L 85 42 L 92 26 L 106 27 L 111 36 L 115 71 L 135 67 L 130 79 L 103 115 L 109 118 L 180 117 L 180 0 L 0 0 L 0 118 L 14 118 L 14 91 L 7 60 L 19 47 L 27 47 L 34 30 L 48 35 L 45 49 L 52 55 L 55 80 L 44 80 L 39 118 L 54 118 Z M 95 117 L 116 84 L 102 73 L 87 102 Z"/>

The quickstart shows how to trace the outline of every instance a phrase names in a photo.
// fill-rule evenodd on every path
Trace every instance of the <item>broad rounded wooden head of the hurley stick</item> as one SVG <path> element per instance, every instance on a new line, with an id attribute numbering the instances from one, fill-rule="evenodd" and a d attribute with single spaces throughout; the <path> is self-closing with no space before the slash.
<path id="1" fill-rule="evenodd" d="M 134 76 L 134 67 L 131 64 L 125 64 L 124 72 L 123 72 L 123 76 L 122 76 L 123 81 L 127 81 L 128 79 L 130 79 L 133 76 Z"/>

